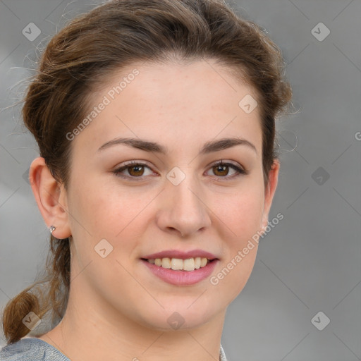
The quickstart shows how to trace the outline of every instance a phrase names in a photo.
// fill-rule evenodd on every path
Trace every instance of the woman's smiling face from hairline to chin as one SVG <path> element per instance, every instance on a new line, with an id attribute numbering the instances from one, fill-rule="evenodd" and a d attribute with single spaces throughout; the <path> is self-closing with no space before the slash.
<path id="1" fill-rule="evenodd" d="M 278 174 L 265 189 L 251 97 L 212 61 L 134 66 L 94 94 L 89 122 L 69 135 L 72 292 L 155 329 L 226 310 L 252 271 Z"/>

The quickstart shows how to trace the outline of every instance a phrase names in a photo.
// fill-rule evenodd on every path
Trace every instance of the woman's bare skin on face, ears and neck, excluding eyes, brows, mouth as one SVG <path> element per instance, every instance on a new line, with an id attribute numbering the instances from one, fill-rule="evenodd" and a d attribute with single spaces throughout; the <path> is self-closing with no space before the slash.
<path id="1" fill-rule="evenodd" d="M 189 355 L 219 360 L 226 308 L 250 276 L 257 245 L 217 285 L 210 277 L 192 286 L 171 285 L 140 257 L 207 250 L 219 258 L 211 276 L 218 274 L 267 226 L 279 163 L 264 187 L 259 109 L 246 114 L 238 106 L 246 94 L 256 94 L 224 68 L 212 61 L 133 68 L 140 74 L 71 142 L 67 189 L 44 159 L 32 162 L 32 190 L 44 221 L 56 226 L 56 238 L 72 235 L 68 308 L 61 323 L 39 338 L 72 361 L 184 361 Z M 93 95 L 94 106 L 129 72 L 123 69 L 104 83 Z M 199 154 L 204 143 L 235 136 L 255 149 L 237 145 Z M 158 142 L 169 152 L 126 145 L 98 151 L 116 137 Z M 217 171 L 213 164 L 221 159 L 249 173 Z M 114 173 L 132 160 L 148 161 L 150 168 L 122 174 L 142 181 Z M 185 174 L 179 185 L 166 178 L 174 166 Z M 113 251 L 102 258 L 94 247 L 104 238 Z M 185 321 L 177 330 L 167 322 L 173 312 Z"/>

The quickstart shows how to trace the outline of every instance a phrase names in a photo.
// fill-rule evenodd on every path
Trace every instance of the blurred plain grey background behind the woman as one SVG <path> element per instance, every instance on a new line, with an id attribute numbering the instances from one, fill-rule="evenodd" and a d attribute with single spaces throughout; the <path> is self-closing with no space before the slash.
<path id="1" fill-rule="evenodd" d="M 49 238 L 26 181 L 37 147 L 20 107 L 6 107 L 21 96 L 25 84 L 16 84 L 31 74 L 39 43 L 99 3 L 0 1 L 1 309 L 41 271 Z M 228 307 L 222 345 L 229 361 L 361 360 L 361 1 L 228 4 L 281 47 L 299 110 L 278 123 L 269 219 L 284 219 L 261 240 L 250 280 Z M 312 34 L 320 22 L 330 30 L 322 41 Z M 29 23 L 41 30 L 34 41 L 22 34 Z M 311 322 L 319 311 L 331 319 L 322 331 Z"/>

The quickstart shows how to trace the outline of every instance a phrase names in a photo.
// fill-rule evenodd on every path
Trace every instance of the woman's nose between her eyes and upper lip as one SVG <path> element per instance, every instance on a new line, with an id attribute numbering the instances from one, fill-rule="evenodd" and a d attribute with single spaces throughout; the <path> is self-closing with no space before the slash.
<path id="1" fill-rule="evenodd" d="M 160 196 L 157 225 L 162 231 L 185 237 L 211 225 L 204 192 L 191 176 L 186 176 L 178 185 L 166 181 Z"/>

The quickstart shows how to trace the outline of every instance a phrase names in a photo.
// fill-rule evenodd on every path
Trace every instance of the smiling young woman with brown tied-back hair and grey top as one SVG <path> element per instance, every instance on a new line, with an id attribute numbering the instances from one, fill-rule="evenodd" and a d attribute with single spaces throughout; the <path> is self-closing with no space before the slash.
<path id="1" fill-rule="evenodd" d="M 226 360 L 290 97 L 224 1 L 108 1 L 55 35 L 23 106 L 49 274 L 6 305 L 1 360 Z"/>

